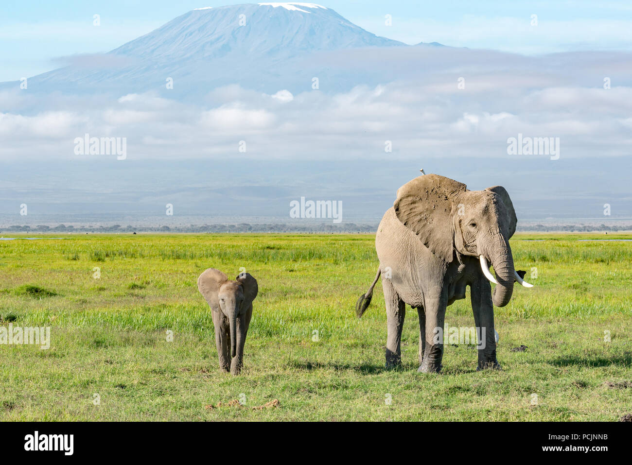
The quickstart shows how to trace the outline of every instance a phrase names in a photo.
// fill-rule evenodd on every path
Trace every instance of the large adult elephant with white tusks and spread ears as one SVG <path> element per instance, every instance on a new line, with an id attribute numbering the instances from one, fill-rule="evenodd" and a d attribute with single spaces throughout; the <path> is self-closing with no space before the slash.
<path id="1" fill-rule="evenodd" d="M 404 184 L 387 210 L 375 236 L 380 267 L 375 281 L 356 304 L 362 314 L 382 275 L 388 337 L 387 368 L 401 364 L 401 331 L 405 305 L 419 314 L 418 371 L 441 371 L 446 307 L 465 299 L 471 305 L 479 341 L 478 367 L 500 368 L 496 359 L 494 305 L 505 306 L 514 282 L 525 272 L 514 270 L 509 238 L 516 231 L 516 213 L 507 191 L 494 186 L 470 191 L 465 184 L 437 174 L 426 174 Z M 489 271 L 491 262 L 496 279 Z M 489 281 L 496 284 L 492 293 Z"/>

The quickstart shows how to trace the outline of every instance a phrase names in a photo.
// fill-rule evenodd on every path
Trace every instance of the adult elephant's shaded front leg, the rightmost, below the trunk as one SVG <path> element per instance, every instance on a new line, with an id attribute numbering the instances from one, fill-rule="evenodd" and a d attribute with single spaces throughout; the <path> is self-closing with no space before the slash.
<path id="1" fill-rule="evenodd" d="M 478 370 L 484 368 L 501 369 L 496 359 L 496 338 L 494 335 L 494 305 L 492 304 L 492 287 L 489 282 L 478 280 L 470 286 L 474 324 L 477 327 Z"/>

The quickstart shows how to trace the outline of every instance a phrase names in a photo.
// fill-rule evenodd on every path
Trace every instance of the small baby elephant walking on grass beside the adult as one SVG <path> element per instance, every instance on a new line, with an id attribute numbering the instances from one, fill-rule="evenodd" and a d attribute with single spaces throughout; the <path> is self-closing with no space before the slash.
<path id="1" fill-rule="evenodd" d="M 219 366 L 239 375 L 252 301 L 257 297 L 257 280 L 241 273 L 235 281 L 229 281 L 220 270 L 209 268 L 198 277 L 198 289 L 212 309 Z"/>

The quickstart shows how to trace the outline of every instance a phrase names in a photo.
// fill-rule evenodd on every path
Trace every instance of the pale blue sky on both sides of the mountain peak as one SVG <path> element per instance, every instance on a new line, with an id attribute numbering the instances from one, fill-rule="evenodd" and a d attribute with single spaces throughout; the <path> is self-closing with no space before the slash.
<path id="1" fill-rule="evenodd" d="M 228 0 L 20 1 L 0 12 L 0 82 L 57 68 L 56 58 L 106 52 L 186 11 L 240 4 Z M 321 2 L 377 35 L 408 44 L 437 41 L 521 54 L 629 50 L 629 1 Z M 100 15 L 100 27 L 92 25 Z M 392 16 L 392 25 L 385 16 Z M 530 25 L 537 15 L 538 25 Z"/>

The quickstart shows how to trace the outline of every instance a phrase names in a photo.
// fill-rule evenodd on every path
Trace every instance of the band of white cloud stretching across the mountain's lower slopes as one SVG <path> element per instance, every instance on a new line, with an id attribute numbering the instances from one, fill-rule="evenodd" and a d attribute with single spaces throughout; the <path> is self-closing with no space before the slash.
<path id="1" fill-rule="evenodd" d="M 385 55 L 385 66 L 394 66 L 399 53 Z M 354 59 L 362 61 L 362 54 Z M 393 158 L 423 153 L 494 159 L 507 156 L 506 140 L 518 133 L 560 137 L 564 157 L 593 157 L 597 142 L 600 155 L 629 154 L 628 54 L 607 55 L 609 69 L 617 70 L 611 89 L 602 87 L 606 71 L 594 71 L 602 69 L 603 54 L 533 59 L 446 50 L 423 52 L 423 59 L 423 68 L 431 70 L 425 74 L 403 69 L 400 80 L 337 94 L 262 94 L 229 85 L 184 103 L 166 98 L 168 92 L 112 100 L 5 91 L 0 158 L 71 158 L 72 138 L 84 133 L 125 136 L 135 158 L 226 155 L 246 140 L 248 152 L 263 159 L 368 160 L 383 158 L 384 142 L 391 140 Z M 528 71 L 510 71 L 516 68 Z M 464 89 L 457 87 L 461 76 Z M 39 145 L 47 150 L 31 150 Z"/>

